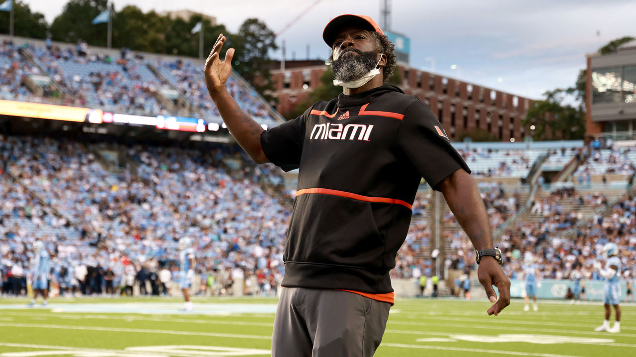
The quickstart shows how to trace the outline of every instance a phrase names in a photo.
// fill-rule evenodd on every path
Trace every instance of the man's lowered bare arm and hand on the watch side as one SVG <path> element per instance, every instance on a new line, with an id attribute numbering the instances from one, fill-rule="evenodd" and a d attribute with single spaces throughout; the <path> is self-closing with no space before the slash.
<path id="1" fill-rule="evenodd" d="M 494 248 L 486 207 L 473 177 L 460 168 L 442 180 L 438 187 L 474 248 Z M 488 309 L 488 314 L 497 316 L 510 304 L 510 280 L 494 257 L 481 258 L 477 276 L 486 290 L 488 299 L 494 302 Z M 492 288 L 493 285 L 499 290 L 499 300 Z"/>

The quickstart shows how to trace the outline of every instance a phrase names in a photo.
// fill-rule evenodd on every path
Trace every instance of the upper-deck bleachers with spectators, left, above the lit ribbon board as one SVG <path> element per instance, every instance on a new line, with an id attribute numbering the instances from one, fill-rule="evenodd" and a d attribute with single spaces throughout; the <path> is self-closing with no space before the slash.
<path id="1" fill-rule="evenodd" d="M 142 116 L 218 117 L 202 72 L 202 64 L 195 64 L 191 58 L 146 59 L 141 53 L 124 49 L 117 57 L 93 51 L 85 43 L 73 48 L 70 44 L 18 44 L 5 40 L 0 47 L 0 84 L 3 84 L 0 98 L 57 102 Z M 64 98 L 53 84 L 45 85 L 42 95 L 22 85 L 22 76 L 31 74 L 48 76 L 59 84 Z M 241 107 L 259 123 L 277 124 L 266 102 L 237 74 L 233 73 L 226 85 Z M 186 108 L 169 104 L 175 98 L 162 98 L 163 90 L 181 93 Z"/>

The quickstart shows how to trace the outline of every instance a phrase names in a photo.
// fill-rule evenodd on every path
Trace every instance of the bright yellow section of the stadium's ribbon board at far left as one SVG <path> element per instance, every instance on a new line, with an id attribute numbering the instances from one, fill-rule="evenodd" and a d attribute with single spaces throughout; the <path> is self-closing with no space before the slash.
<path id="1" fill-rule="evenodd" d="M 39 103 L 15 102 L 13 100 L 0 100 L 0 114 L 11 116 L 23 116 L 26 118 L 42 118 L 64 121 L 76 121 L 82 123 L 88 117 L 93 121 L 99 118 L 101 123 L 101 109 L 88 109 L 78 107 L 65 107 L 64 105 L 51 105 Z"/>

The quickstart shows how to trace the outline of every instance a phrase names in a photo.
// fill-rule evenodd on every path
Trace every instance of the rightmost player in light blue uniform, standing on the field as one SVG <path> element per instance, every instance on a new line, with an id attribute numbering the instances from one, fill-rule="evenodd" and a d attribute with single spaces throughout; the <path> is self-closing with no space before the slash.
<path id="1" fill-rule="evenodd" d="M 621 286 L 618 283 L 621 273 L 621 259 L 618 257 L 618 245 L 616 243 L 607 243 L 603 248 L 603 254 L 607 257 L 605 268 L 602 267 L 600 262 L 595 262 L 594 269 L 598 271 L 600 276 L 607 279 L 604 287 L 605 321 L 603 321 L 603 325 L 594 330 L 618 333 L 621 332 L 621 307 L 618 305 L 621 297 Z M 609 327 L 609 316 L 612 313 L 610 306 L 614 306 L 614 311 L 616 312 L 616 323 L 611 328 Z"/>

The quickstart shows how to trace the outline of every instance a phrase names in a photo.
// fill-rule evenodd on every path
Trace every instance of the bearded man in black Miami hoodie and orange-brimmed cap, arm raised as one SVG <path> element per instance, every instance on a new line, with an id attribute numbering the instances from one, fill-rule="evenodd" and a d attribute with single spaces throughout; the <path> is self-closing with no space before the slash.
<path id="1" fill-rule="evenodd" d="M 438 119 L 417 98 L 384 85 L 396 57 L 382 29 L 370 17 L 342 15 L 329 22 L 322 38 L 331 47 L 334 84 L 343 93 L 267 131 L 225 88 L 234 49 L 219 59 L 223 34 L 204 70 L 212 100 L 247 154 L 256 163 L 300 168 L 273 327 L 274 357 L 375 353 L 394 302 L 389 271 L 406 238 L 422 177 L 443 192 L 476 250 L 494 248 L 470 170 Z M 497 315 L 509 304 L 501 252 L 477 256 L 480 282 L 494 303 L 488 314 Z"/>

